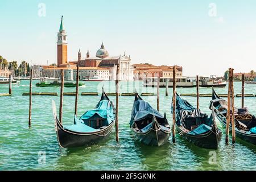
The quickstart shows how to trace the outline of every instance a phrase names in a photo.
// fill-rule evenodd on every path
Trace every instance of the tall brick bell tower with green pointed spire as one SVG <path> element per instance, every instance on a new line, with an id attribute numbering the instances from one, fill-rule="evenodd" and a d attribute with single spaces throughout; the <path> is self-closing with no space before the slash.
<path id="1" fill-rule="evenodd" d="M 68 42 L 67 34 L 63 26 L 63 16 L 61 16 L 60 30 L 57 37 L 57 66 L 68 63 Z"/>

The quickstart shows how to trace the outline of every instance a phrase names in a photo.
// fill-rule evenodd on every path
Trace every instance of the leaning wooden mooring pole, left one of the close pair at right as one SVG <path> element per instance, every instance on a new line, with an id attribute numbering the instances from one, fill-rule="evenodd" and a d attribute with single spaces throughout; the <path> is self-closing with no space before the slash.
<path id="1" fill-rule="evenodd" d="M 229 88 L 228 88 L 228 109 L 226 113 L 226 144 L 229 143 L 229 124 L 230 124 L 230 96 L 231 96 L 231 81 L 230 78 L 232 77 L 232 68 L 229 68 Z"/>

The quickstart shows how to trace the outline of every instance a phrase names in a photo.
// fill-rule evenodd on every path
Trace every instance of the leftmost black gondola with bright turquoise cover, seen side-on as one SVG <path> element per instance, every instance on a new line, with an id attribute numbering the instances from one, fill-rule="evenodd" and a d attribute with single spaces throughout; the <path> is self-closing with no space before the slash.
<path id="1" fill-rule="evenodd" d="M 103 91 L 101 100 L 93 110 L 86 111 L 80 118 L 74 117 L 74 124 L 64 127 L 56 115 L 52 100 L 55 131 L 61 148 L 83 147 L 96 144 L 109 136 L 115 122 L 115 108 Z"/>

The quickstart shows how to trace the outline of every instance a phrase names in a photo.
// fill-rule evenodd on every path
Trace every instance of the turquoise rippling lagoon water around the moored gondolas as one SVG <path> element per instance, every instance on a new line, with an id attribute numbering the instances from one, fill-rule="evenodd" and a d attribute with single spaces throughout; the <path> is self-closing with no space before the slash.
<path id="1" fill-rule="evenodd" d="M 34 81 L 33 84 L 35 85 Z M 121 82 L 121 92 L 155 92 L 155 88 L 143 88 L 141 82 Z M 81 92 L 114 92 L 114 82 L 86 82 Z M 235 94 L 241 92 L 241 82 L 235 82 Z M 60 88 L 36 88 L 33 92 L 58 92 Z M 227 87 L 216 88 L 226 94 Z M 256 85 L 246 85 L 245 92 L 256 94 Z M 8 92 L 8 85 L 0 85 L 0 93 Z M 237 138 L 236 144 L 225 145 L 225 134 L 216 151 L 193 146 L 181 137 L 176 143 L 170 141 L 161 147 L 149 147 L 139 143 L 129 127 L 134 97 L 119 97 L 119 138 L 115 142 L 114 132 L 99 144 L 73 149 L 60 148 L 57 143 L 52 117 L 51 100 L 59 105 L 59 96 L 32 97 L 32 127 L 28 129 L 29 81 L 13 85 L 13 96 L 0 97 L 0 170 L 255 170 L 256 147 Z M 75 88 L 64 88 L 64 92 L 75 92 Z M 177 88 L 178 93 L 196 93 L 196 88 Z M 212 93 L 211 88 L 200 88 L 200 93 Z M 160 112 L 166 112 L 172 122 L 170 96 L 160 89 Z M 80 96 L 78 115 L 96 106 L 100 96 Z M 110 99 L 115 101 L 114 96 Z M 143 97 L 156 107 L 156 97 Z M 185 97 L 196 105 L 196 97 Z M 200 108 L 210 114 L 210 98 L 200 98 Z M 241 98 L 235 98 L 236 106 Z M 63 123 L 73 123 L 75 97 L 64 96 Z M 256 97 L 245 98 L 245 105 L 256 114 Z M 212 156 L 216 154 L 216 161 Z M 210 162 L 209 162 L 210 161 Z M 213 163 L 211 163 L 213 162 Z"/>

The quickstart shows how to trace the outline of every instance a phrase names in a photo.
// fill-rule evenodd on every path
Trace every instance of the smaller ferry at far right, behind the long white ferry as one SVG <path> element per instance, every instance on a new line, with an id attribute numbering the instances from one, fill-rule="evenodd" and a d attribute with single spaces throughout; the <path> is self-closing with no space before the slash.
<path id="1" fill-rule="evenodd" d="M 225 88 L 226 81 L 222 80 L 222 78 L 217 78 L 216 76 L 200 77 L 199 86 Z"/>

